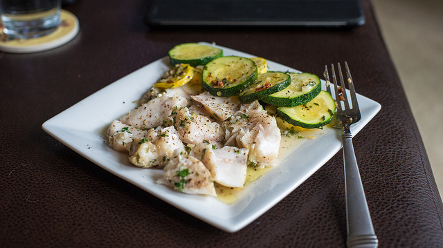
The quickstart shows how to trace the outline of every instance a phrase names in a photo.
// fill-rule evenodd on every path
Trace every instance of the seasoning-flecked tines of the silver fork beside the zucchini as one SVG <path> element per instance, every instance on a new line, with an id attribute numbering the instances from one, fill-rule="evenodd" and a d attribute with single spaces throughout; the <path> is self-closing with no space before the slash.
<path id="1" fill-rule="evenodd" d="M 329 73 L 327 70 L 327 66 L 325 66 L 325 79 L 326 79 L 326 89 L 329 94 L 331 94 L 334 99 L 337 102 L 337 113 L 340 114 L 341 111 L 350 111 L 352 109 L 352 112 L 360 112 L 359 111 L 359 103 L 357 102 L 356 93 L 354 84 L 351 77 L 351 72 L 349 69 L 349 66 L 347 66 L 347 62 L 345 61 L 345 70 L 346 70 L 346 78 L 347 78 L 347 84 L 349 86 L 350 91 L 350 98 L 351 98 L 351 104 L 352 107 L 350 107 L 349 101 L 347 99 L 347 93 L 346 93 L 346 86 L 345 81 L 343 80 L 343 73 L 341 70 L 340 63 L 337 63 L 338 66 L 338 76 L 340 77 L 340 86 L 337 84 L 337 78 L 335 74 L 334 64 L 331 64 L 331 73 L 332 73 L 332 82 L 329 79 Z M 330 84 L 334 84 L 334 94 L 332 94 L 332 88 Z M 341 102 L 343 102 L 344 107 L 342 106 Z"/>

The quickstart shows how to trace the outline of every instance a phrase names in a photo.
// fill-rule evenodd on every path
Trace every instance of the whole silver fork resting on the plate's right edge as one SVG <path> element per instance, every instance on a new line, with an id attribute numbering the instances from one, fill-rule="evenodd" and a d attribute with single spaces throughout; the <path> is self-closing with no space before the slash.
<path id="1" fill-rule="evenodd" d="M 347 83 L 350 90 L 350 102 L 345 90 L 345 82 L 341 72 L 340 63 L 338 65 L 338 75 L 340 86 L 337 84 L 334 64 L 331 65 L 332 83 L 334 84 L 334 95 L 337 102 L 337 112 L 332 119 L 330 126 L 341 128 L 341 139 L 343 144 L 343 157 L 345 166 L 345 191 L 346 191 L 346 225 L 347 225 L 347 247 L 378 247 L 379 240 L 372 226 L 371 216 L 366 202 L 365 192 L 361 184 L 359 166 L 357 165 L 354 145 L 352 144 L 352 133 L 350 126 L 361 119 L 359 103 L 356 99 L 354 84 L 347 63 L 345 69 Z M 327 91 L 332 94 L 329 81 L 329 73 L 325 66 L 325 79 Z M 352 106 L 350 106 L 350 104 Z"/>

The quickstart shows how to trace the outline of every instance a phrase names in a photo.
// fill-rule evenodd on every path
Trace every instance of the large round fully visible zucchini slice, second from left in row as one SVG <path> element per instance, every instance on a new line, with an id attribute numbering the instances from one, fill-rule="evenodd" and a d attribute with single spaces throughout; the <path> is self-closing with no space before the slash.
<path id="1" fill-rule="evenodd" d="M 257 66 L 245 57 L 225 56 L 210 61 L 203 68 L 201 86 L 211 95 L 238 95 L 257 80 Z"/>

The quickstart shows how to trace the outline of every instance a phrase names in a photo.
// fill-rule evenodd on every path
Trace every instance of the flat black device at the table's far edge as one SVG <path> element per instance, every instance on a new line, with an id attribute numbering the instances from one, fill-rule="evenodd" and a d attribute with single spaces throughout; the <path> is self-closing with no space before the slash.
<path id="1" fill-rule="evenodd" d="M 152 0 L 150 26 L 361 26 L 359 0 Z"/>

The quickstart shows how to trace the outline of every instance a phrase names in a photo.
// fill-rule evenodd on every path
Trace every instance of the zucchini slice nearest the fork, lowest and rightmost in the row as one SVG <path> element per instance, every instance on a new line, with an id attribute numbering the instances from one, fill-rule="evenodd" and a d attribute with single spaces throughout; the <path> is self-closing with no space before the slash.
<path id="1" fill-rule="evenodd" d="M 335 113 L 335 101 L 324 90 L 310 102 L 292 108 L 278 107 L 277 115 L 293 126 L 321 128 L 331 122 Z"/>

